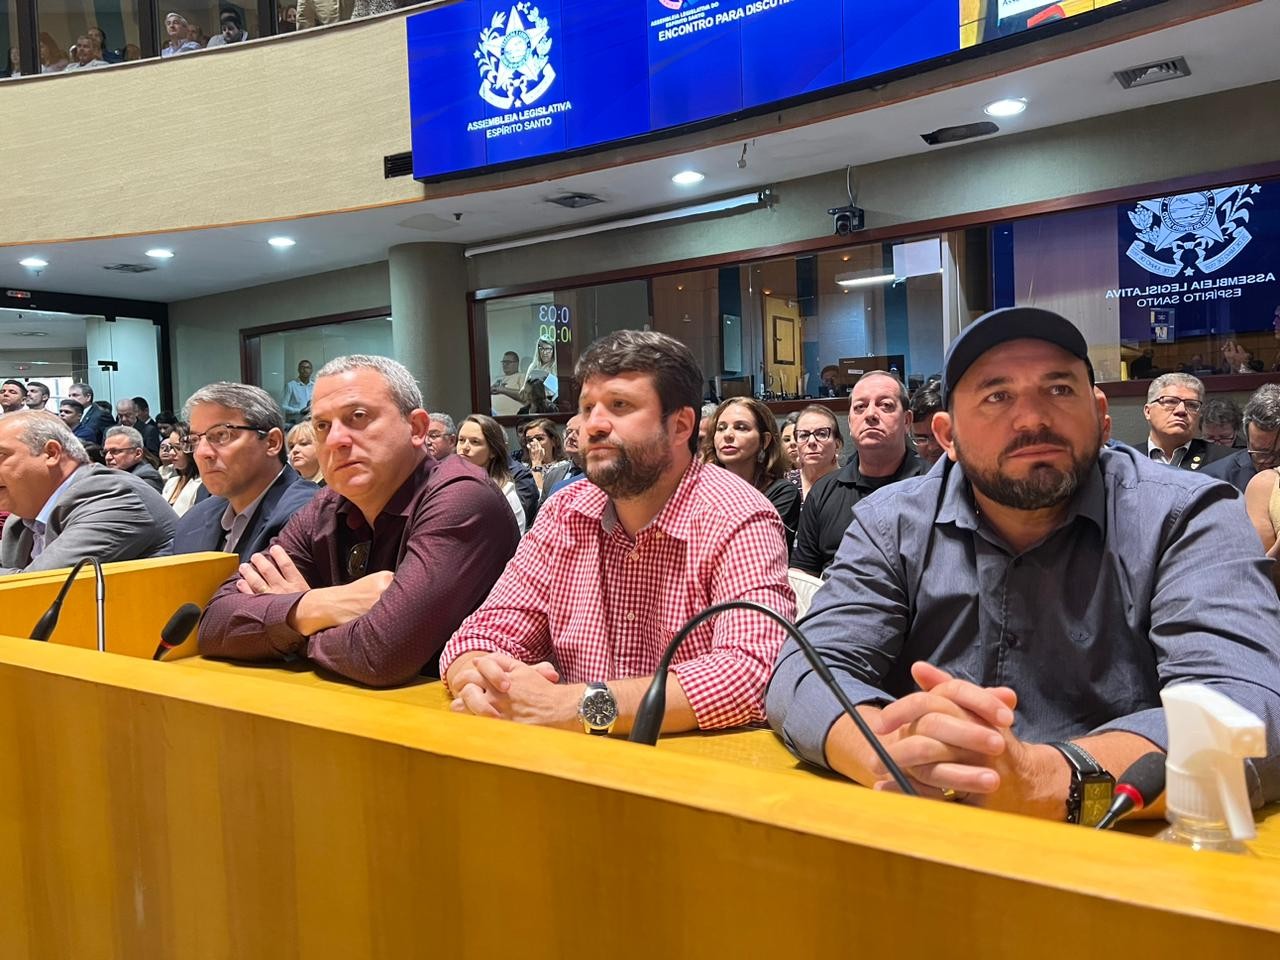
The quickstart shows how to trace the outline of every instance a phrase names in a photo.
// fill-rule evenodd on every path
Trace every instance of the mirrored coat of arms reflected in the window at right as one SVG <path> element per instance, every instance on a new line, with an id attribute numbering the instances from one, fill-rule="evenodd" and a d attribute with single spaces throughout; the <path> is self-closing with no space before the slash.
<path id="1" fill-rule="evenodd" d="M 1161 276 L 1215 273 L 1253 239 L 1247 228 L 1248 207 L 1261 189 L 1256 183 L 1242 183 L 1143 200 L 1129 211 L 1137 239 L 1126 253 Z"/>

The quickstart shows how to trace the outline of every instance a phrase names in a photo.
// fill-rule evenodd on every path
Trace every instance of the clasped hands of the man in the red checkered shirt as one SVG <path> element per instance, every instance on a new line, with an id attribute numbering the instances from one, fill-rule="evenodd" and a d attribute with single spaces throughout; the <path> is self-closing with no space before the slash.
<path id="1" fill-rule="evenodd" d="M 504 653 L 486 653 L 449 678 L 457 713 L 497 717 L 520 723 L 572 728 L 581 686 L 559 682 L 556 667 L 543 660 L 527 664 Z"/>

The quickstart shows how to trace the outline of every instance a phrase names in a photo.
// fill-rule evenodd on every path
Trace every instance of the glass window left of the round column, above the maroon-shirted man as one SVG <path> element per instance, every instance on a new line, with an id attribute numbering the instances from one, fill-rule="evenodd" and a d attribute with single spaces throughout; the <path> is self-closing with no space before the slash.
<path id="1" fill-rule="evenodd" d="M 300 365 L 310 364 L 311 372 L 334 357 L 348 353 L 393 356 L 392 319 L 389 316 L 316 324 L 296 330 L 247 334 L 244 337 L 244 379 L 261 387 L 282 406 L 288 406 L 285 419 L 293 424 L 303 419 L 297 403 L 289 403 L 289 383 L 298 380 Z"/>

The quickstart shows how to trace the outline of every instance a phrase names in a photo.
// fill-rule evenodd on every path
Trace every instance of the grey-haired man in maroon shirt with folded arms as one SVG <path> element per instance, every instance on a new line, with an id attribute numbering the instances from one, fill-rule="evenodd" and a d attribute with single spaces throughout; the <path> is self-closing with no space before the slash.
<path id="1" fill-rule="evenodd" d="M 422 396 L 394 360 L 326 364 L 311 422 L 328 485 L 223 584 L 200 652 L 306 655 L 371 686 L 434 675 L 516 552 L 507 499 L 462 457 L 431 458 Z"/>

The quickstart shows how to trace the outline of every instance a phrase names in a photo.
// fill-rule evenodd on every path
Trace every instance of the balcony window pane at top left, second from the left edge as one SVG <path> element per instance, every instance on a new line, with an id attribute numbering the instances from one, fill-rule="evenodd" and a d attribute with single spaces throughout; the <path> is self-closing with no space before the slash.
<path id="1" fill-rule="evenodd" d="M 137 60 L 137 0 L 38 0 L 40 69 L 61 73 Z"/>

